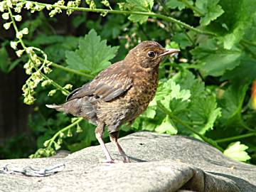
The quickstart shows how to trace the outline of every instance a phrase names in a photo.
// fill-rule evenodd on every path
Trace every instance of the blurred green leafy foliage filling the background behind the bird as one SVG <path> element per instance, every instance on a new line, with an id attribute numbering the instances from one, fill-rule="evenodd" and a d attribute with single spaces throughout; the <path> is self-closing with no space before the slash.
<path id="1" fill-rule="evenodd" d="M 27 5 L 26 0 L 18 2 Z M 110 62 L 122 60 L 140 41 L 158 41 L 165 47 L 181 48 L 178 57 L 161 63 L 159 88 L 148 110 L 134 124 L 124 125 L 120 135 L 139 130 L 190 135 L 233 159 L 256 164 L 256 111 L 251 99 L 251 85 L 256 79 L 254 0 L 86 2 L 80 7 L 120 12 L 75 11 L 68 18 L 68 31 L 58 33 L 55 26 L 60 26 L 65 14 L 57 19 L 50 18 L 46 11 L 36 10 L 36 14 L 23 11 L 26 16 L 20 26 L 29 31 L 23 42 L 41 48 L 48 60 L 65 67 L 63 70 L 52 64 L 53 71 L 48 75 L 51 80 L 80 87 Z M 78 3 L 75 1 L 72 7 Z M 35 7 L 33 4 L 30 9 Z M 57 14 L 56 10 L 52 7 L 50 16 Z M 6 41 L 0 49 L 0 69 L 9 73 L 16 65 L 22 65 L 27 56 L 11 61 L 5 46 Z M 97 144 L 92 124 L 45 107 L 65 100 L 61 92 L 48 97 L 53 88 L 53 85 L 38 86 L 35 90 L 36 112 L 28 123 L 39 149 L 33 156 L 49 156 L 60 148 L 78 151 Z M 70 124 L 72 127 L 68 127 Z"/>

